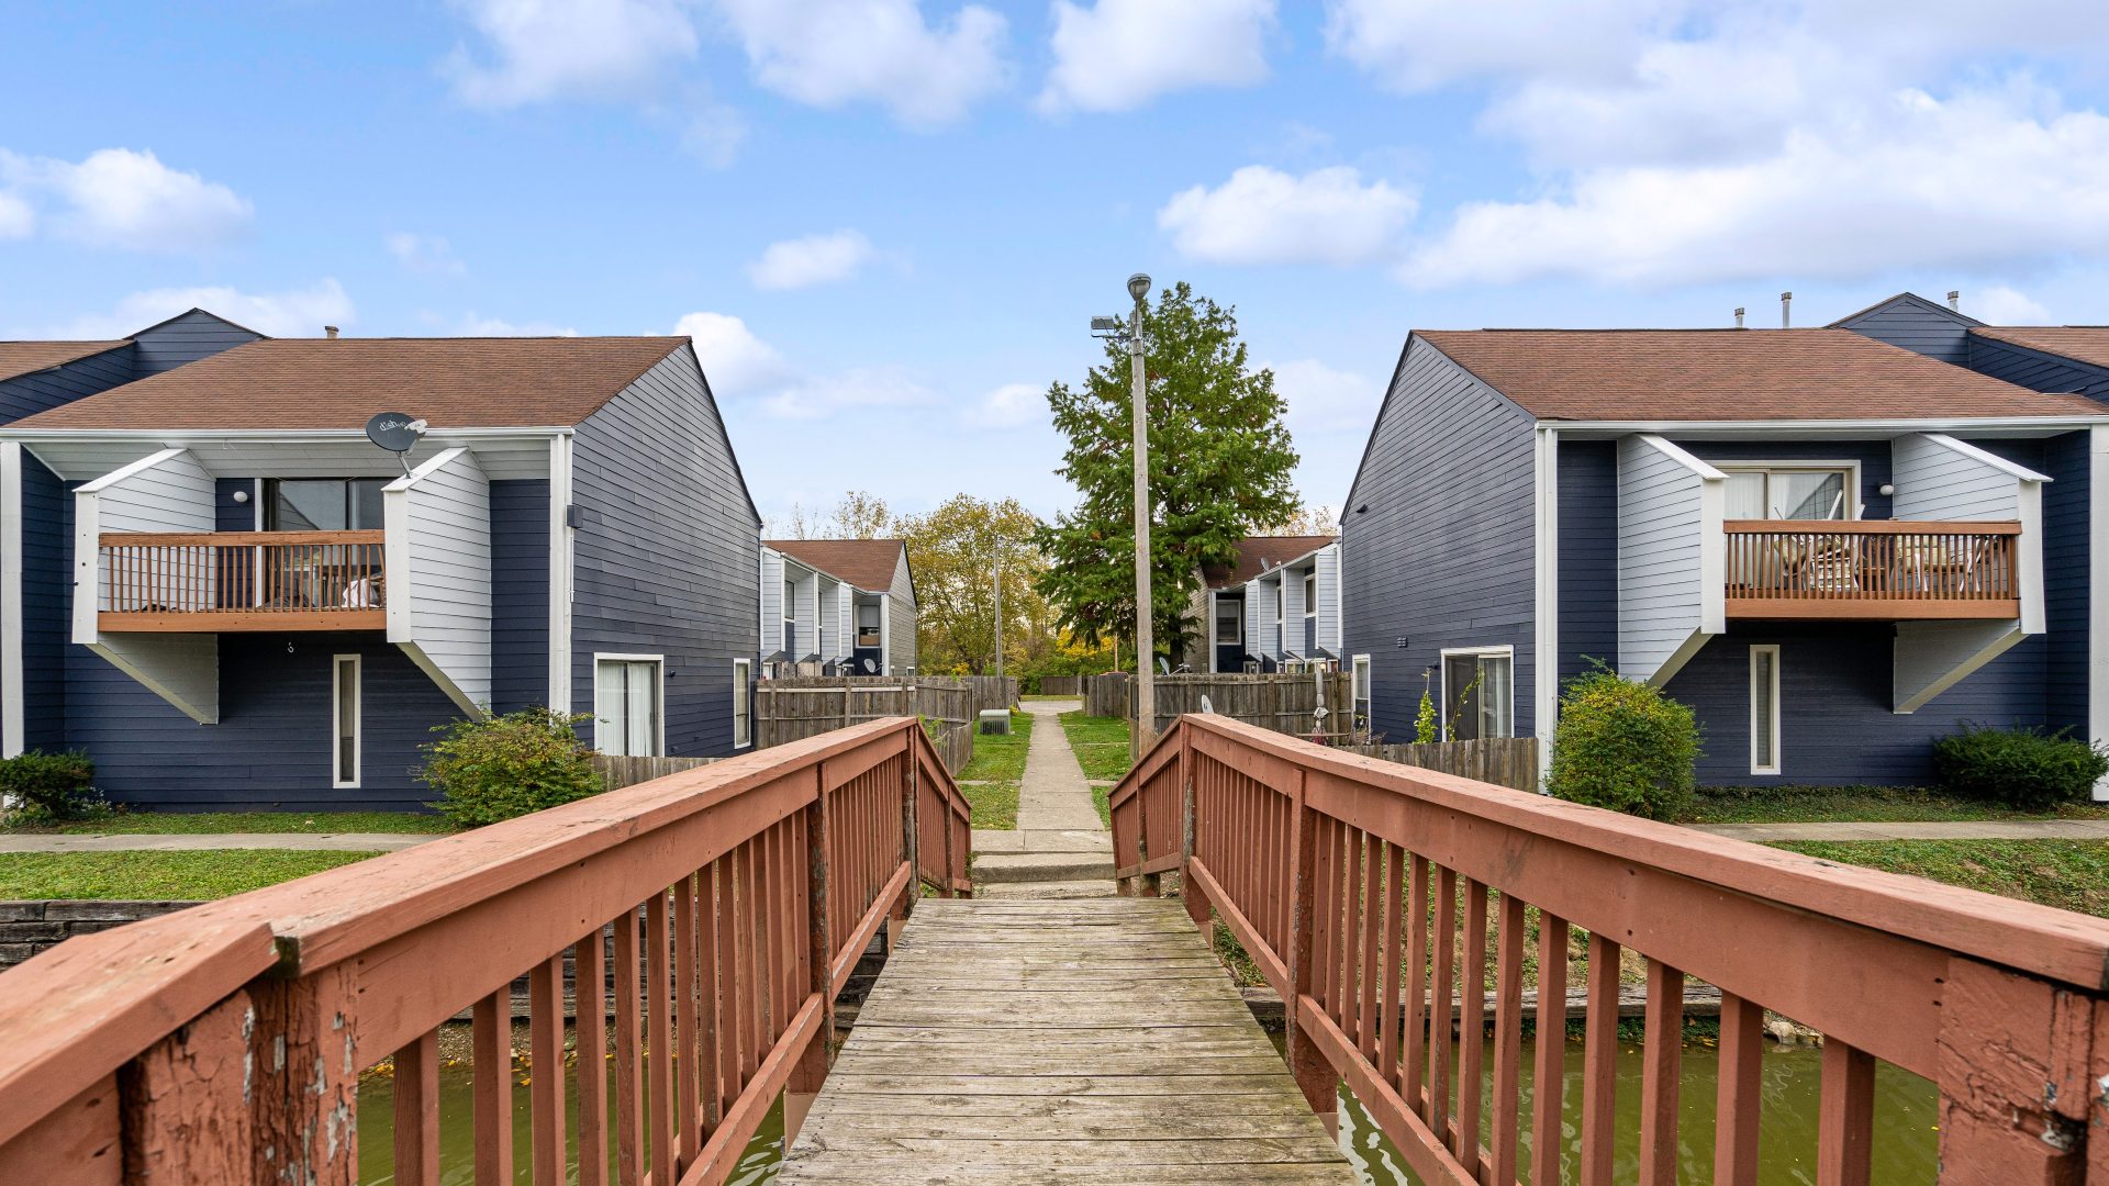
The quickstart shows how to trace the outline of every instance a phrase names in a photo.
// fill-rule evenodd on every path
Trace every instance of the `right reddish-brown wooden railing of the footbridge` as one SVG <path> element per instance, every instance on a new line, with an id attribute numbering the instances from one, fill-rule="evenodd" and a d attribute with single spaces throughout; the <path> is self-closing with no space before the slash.
<path id="1" fill-rule="evenodd" d="M 1942 1182 L 2109 1186 L 2105 920 L 1223 718 L 1185 718 L 1111 808 L 1122 886 L 1156 893 L 1158 874 L 1177 869 L 1192 918 L 1221 918 L 1282 994 L 1291 1070 L 1312 1106 L 1331 1112 L 1346 1080 L 1424 1182 L 1561 1182 L 1565 1042 L 1535 1045 L 1521 1102 L 1525 952 L 1535 941 L 1540 981 L 1565 983 L 1569 931 L 1586 931 L 1584 1184 L 1609 1186 L 1613 1148 L 1632 1140 L 1618 1131 L 1618 973 L 1630 950 L 1647 969 L 1643 1184 L 1677 1180 L 1681 1002 L 1696 977 L 1721 990 L 1717 1184 L 1757 1182 L 1772 1009 L 1824 1034 L 1816 1182 L 1869 1182 L 1885 1061 L 1940 1091 Z M 1495 988 L 1491 1047 L 1483 983 Z M 1537 1000 L 1537 1032 L 1563 1032 L 1563 996 Z"/>

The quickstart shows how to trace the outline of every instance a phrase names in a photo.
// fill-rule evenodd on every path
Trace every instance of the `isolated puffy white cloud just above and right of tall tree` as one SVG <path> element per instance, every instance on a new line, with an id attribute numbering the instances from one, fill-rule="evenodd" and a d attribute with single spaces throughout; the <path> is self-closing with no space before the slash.
<path id="1" fill-rule="evenodd" d="M 1413 209 L 1413 194 L 1346 165 L 1301 177 L 1246 165 L 1215 190 L 1175 194 L 1158 226 L 1187 260 L 1352 266 L 1390 255 Z"/>

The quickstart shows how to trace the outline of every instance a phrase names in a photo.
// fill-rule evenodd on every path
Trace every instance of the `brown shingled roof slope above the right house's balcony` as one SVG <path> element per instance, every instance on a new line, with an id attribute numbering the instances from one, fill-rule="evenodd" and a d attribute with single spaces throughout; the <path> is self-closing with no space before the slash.
<path id="1" fill-rule="evenodd" d="M 1852 329 L 1415 331 L 1540 420 L 2101 416 Z"/>

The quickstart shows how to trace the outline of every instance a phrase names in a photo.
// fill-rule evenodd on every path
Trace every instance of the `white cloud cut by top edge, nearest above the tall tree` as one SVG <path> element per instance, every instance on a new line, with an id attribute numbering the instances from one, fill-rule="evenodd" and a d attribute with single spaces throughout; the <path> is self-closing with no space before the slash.
<path id="1" fill-rule="evenodd" d="M 1054 68 L 1042 112 L 1126 112 L 1194 87 L 1268 76 L 1274 0 L 1054 0 Z"/>

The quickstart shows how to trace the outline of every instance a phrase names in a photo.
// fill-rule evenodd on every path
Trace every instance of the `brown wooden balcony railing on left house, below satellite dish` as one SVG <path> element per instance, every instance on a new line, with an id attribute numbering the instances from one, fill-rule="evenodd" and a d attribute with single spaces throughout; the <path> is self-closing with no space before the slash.
<path id="1" fill-rule="evenodd" d="M 380 631 L 384 532 L 103 532 L 105 631 Z"/>

